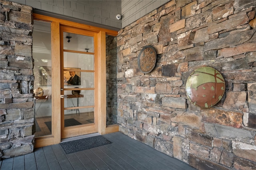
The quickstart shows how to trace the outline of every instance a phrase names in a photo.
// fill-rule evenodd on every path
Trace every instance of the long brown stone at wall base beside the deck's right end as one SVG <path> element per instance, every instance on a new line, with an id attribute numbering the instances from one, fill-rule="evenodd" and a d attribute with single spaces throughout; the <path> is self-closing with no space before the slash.
<path id="1" fill-rule="evenodd" d="M 206 160 L 204 158 L 200 158 L 194 154 L 188 155 L 188 163 L 190 166 L 198 170 L 230 170 L 230 168 L 226 168 L 220 164 L 212 162 L 210 160 Z"/>

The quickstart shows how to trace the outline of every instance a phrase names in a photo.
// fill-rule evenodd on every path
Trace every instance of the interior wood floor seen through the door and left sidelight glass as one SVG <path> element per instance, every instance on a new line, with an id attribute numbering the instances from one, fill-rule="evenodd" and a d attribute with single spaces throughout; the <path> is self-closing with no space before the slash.
<path id="1" fill-rule="evenodd" d="M 85 113 L 74 113 L 74 114 L 67 114 L 64 116 L 65 119 L 75 119 L 80 124 L 89 124 L 94 123 L 94 112 L 85 112 Z M 51 130 L 48 127 L 47 124 L 51 124 L 52 117 L 36 117 L 36 133 L 34 133 L 35 137 L 50 135 Z M 74 121 L 73 121 L 74 122 Z M 74 124 L 75 125 L 75 124 Z M 70 126 L 70 124 L 67 124 L 65 122 L 65 127 Z"/>

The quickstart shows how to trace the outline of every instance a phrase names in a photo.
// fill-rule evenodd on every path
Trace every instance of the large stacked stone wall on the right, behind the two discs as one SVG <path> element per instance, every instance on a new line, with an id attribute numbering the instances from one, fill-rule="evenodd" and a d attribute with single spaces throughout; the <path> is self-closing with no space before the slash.
<path id="1" fill-rule="evenodd" d="M 118 33 L 120 131 L 201 170 L 256 169 L 255 0 L 172 0 Z M 138 69 L 145 45 L 152 72 Z M 214 107 L 186 97 L 188 76 L 210 66 L 224 77 Z"/>

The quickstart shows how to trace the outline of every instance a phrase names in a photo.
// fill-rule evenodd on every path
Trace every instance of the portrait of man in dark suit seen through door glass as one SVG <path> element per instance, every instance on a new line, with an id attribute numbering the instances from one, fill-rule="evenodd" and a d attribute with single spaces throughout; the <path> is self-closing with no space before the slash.
<path id="1" fill-rule="evenodd" d="M 70 69 L 70 71 L 67 71 Z M 64 85 L 81 85 L 81 72 L 73 70 L 81 70 L 81 68 L 64 68 Z"/>

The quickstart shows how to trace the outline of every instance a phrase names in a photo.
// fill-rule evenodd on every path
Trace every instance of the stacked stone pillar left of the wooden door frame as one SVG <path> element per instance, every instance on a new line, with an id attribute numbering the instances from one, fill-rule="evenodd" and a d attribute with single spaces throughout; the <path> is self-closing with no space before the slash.
<path id="1" fill-rule="evenodd" d="M 1 159 L 33 152 L 32 7 L 1 0 Z"/>

